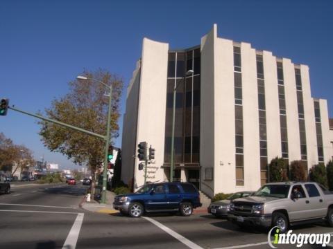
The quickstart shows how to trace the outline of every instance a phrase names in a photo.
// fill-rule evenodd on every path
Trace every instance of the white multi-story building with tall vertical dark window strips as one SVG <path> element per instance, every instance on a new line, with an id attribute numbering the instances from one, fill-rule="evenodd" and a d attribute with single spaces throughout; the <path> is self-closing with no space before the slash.
<path id="1" fill-rule="evenodd" d="M 184 50 L 144 38 L 123 119 L 121 178 L 135 188 L 142 141 L 156 149 L 147 181 L 169 180 L 175 87 L 174 180 L 210 196 L 257 190 L 277 156 L 307 170 L 333 156 L 327 101 L 311 97 L 308 66 L 217 37 L 214 25 Z"/>

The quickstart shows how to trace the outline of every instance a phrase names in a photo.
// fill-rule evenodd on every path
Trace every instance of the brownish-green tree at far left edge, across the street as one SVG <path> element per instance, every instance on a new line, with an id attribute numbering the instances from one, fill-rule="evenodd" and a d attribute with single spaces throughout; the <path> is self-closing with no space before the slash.
<path id="1" fill-rule="evenodd" d="M 17 169 L 31 165 L 35 165 L 32 151 L 24 145 L 15 145 L 10 138 L 0 133 L 0 169 L 14 175 Z"/>

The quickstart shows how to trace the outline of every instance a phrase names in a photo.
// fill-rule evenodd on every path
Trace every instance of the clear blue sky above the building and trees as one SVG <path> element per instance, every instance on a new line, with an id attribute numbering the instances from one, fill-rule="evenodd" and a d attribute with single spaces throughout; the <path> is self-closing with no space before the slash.
<path id="1" fill-rule="evenodd" d="M 30 112 L 50 107 L 84 68 L 105 68 L 126 87 L 141 57 L 142 39 L 170 48 L 200 44 L 215 23 L 219 37 L 307 64 L 311 93 L 328 101 L 333 117 L 333 1 L 0 1 L 0 98 Z M 120 120 L 122 127 L 122 117 Z M 0 132 L 73 167 L 40 142 L 36 120 L 15 111 L 0 117 Z M 121 146 L 121 136 L 115 141 Z"/>

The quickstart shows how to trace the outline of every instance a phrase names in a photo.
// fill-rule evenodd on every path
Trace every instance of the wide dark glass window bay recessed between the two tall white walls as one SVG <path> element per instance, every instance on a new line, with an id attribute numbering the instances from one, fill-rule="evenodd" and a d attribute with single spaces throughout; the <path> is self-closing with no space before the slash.
<path id="1" fill-rule="evenodd" d="M 187 75 L 186 72 L 194 73 Z M 176 87 L 174 162 L 199 163 L 200 48 L 172 52 L 168 57 L 164 163 L 171 163 L 173 89 Z"/>

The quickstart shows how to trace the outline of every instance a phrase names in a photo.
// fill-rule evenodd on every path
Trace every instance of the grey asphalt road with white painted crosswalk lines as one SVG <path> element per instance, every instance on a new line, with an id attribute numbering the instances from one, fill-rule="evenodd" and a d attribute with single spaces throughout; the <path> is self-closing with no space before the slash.
<path id="1" fill-rule="evenodd" d="M 78 207 L 85 191 L 82 185 L 22 184 L 0 194 L 0 248 L 269 248 L 264 232 L 240 230 L 207 214 L 133 219 L 88 212 Z M 333 232 L 324 223 L 292 229 Z"/>

